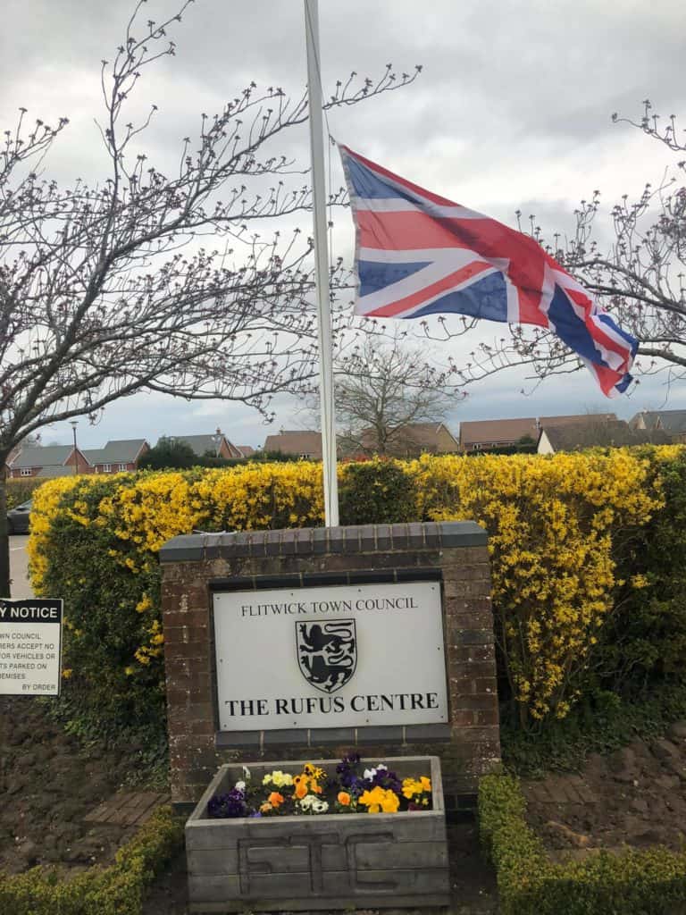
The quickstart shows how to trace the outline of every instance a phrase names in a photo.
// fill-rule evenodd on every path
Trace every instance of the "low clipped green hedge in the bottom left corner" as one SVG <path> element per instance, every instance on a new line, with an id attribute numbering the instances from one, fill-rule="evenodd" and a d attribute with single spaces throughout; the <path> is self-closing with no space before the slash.
<path id="1" fill-rule="evenodd" d="M 156 811 L 117 852 L 112 867 L 92 867 L 64 879 L 52 867 L 0 876 L 3 915 L 141 915 L 148 887 L 183 842 L 170 807 Z"/>

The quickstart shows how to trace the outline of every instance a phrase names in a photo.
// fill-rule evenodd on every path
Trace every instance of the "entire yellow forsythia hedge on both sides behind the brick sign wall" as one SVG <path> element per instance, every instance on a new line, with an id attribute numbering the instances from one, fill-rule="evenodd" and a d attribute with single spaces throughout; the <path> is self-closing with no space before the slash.
<path id="1" fill-rule="evenodd" d="M 339 468 L 341 504 L 356 522 L 483 524 L 502 673 L 523 717 L 563 717 L 616 587 L 646 586 L 643 575 L 616 581 L 617 551 L 660 510 L 659 467 L 682 450 L 350 464 Z M 160 546 L 192 530 L 313 526 L 322 517 L 321 465 L 306 462 L 44 484 L 29 553 L 37 593 L 67 598 L 67 675 L 102 703 L 124 694 L 128 702 L 139 686 L 130 713 L 158 700 L 151 714 L 161 716 Z"/>

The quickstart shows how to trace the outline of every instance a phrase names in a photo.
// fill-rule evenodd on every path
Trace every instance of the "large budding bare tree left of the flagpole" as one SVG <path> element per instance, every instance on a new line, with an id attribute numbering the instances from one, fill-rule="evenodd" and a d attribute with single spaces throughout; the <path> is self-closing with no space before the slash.
<path id="1" fill-rule="evenodd" d="M 0 147 L 2 465 L 41 426 L 81 414 L 96 421 L 106 404 L 141 390 L 241 401 L 268 415 L 273 394 L 308 390 L 316 369 L 312 242 L 280 234 L 287 217 L 310 207 L 307 169 L 273 148 L 305 122 L 306 93 L 289 98 L 252 82 L 220 113 L 200 115 L 177 171 L 164 174 L 141 149 L 156 106 L 141 123 L 127 106 L 145 71 L 174 54 L 167 31 L 188 2 L 145 25 L 143 3 L 113 63 L 102 61 L 102 180 L 63 188 L 44 176 L 67 118 L 27 126 L 22 109 Z M 396 79 L 389 65 L 378 81 L 353 73 L 325 107 L 400 88 L 418 70 Z M 276 221 L 266 240 L 252 231 L 263 220 Z M 7 595 L 5 524 L 0 486 Z"/>

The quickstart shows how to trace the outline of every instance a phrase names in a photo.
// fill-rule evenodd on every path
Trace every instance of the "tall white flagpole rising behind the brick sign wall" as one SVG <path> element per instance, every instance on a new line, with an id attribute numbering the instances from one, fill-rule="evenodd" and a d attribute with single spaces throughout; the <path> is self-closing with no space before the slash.
<path id="1" fill-rule="evenodd" d="M 331 352 L 331 304 L 328 290 L 327 187 L 324 178 L 324 125 L 319 66 L 319 16 L 317 0 L 305 0 L 307 45 L 307 102 L 310 115 L 312 159 L 312 209 L 315 219 L 317 336 L 319 341 L 319 403 L 324 466 L 324 517 L 327 527 L 338 527 L 338 476 L 336 468 L 336 418 L 334 371 Z"/>

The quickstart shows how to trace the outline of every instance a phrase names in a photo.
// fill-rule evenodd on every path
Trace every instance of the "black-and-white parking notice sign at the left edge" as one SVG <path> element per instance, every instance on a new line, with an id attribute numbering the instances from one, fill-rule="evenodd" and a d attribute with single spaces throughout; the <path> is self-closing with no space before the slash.
<path id="1" fill-rule="evenodd" d="M 0 695 L 59 695 L 61 648 L 61 599 L 0 599 Z"/>

